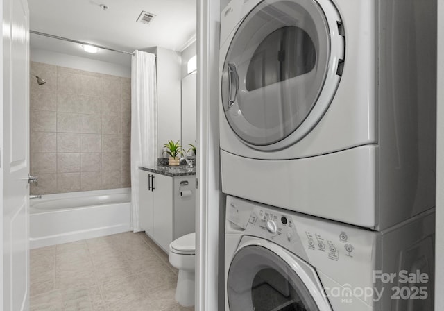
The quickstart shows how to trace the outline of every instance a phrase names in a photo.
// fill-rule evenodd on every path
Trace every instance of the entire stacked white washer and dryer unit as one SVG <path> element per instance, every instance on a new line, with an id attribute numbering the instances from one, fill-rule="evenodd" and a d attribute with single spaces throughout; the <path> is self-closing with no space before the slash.
<path id="1" fill-rule="evenodd" d="M 220 44 L 225 310 L 433 310 L 436 0 L 232 0 Z"/>

